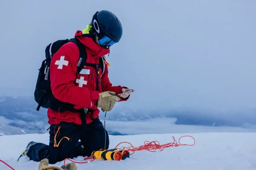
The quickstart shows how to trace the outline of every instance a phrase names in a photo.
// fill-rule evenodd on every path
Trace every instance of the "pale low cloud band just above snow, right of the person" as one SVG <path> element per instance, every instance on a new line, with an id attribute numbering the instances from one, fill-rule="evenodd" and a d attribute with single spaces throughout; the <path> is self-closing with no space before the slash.
<path id="1" fill-rule="evenodd" d="M 116 122 L 106 121 L 106 129 L 110 132 L 135 134 L 160 133 L 206 133 L 206 132 L 256 132 L 256 125 L 250 127 L 215 127 L 196 125 L 175 125 L 176 119 L 151 119 L 143 122 Z"/>

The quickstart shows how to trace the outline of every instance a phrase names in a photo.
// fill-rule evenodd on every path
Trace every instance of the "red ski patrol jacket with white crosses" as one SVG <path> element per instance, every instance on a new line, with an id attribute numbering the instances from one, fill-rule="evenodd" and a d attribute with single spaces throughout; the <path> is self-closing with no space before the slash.
<path id="1" fill-rule="evenodd" d="M 77 31 L 75 37 L 85 46 L 87 52 L 87 62 L 99 64 L 100 57 L 109 53 L 97 45 L 92 38 L 82 36 L 82 31 Z M 112 86 L 108 79 L 108 66 L 102 74 L 99 68 L 99 91 L 96 91 L 96 70 L 90 66 L 84 66 L 84 71 L 76 74 L 77 64 L 79 62 L 79 49 L 73 42 L 64 44 L 52 57 L 50 65 L 50 81 L 52 94 L 56 99 L 62 102 L 68 102 L 75 105 L 75 109 L 88 108 L 93 113 L 86 114 L 86 122 L 92 122 L 91 117 L 99 117 L 99 109 L 96 102 L 99 99 L 99 93 L 104 91 L 113 91 L 116 94 L 122 93 L 121 86 Z M 128 99 L 128 98 L 127 98 Z M 125 100 L 127 100 L 125 99 Z M 121 99 L 120 101 L 123 101 Z M 50 108 L 47 111 L 48 123 L 59 124 L 60 122 L 74 122 L 81 125 L 81 113 L 71 111 L 58 112 Z"/>

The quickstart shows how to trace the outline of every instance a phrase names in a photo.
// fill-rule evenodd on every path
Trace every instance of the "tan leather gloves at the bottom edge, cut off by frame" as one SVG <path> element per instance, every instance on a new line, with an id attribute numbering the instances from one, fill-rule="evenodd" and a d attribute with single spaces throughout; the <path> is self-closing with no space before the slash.
<path id="1" fill-rule="evenodd" d="M 61 167 L 49 166 L 49 160 L 43 159 L 39 163 L 38 170 L 77 170 L 77 166 L 73 162 Z"/>

